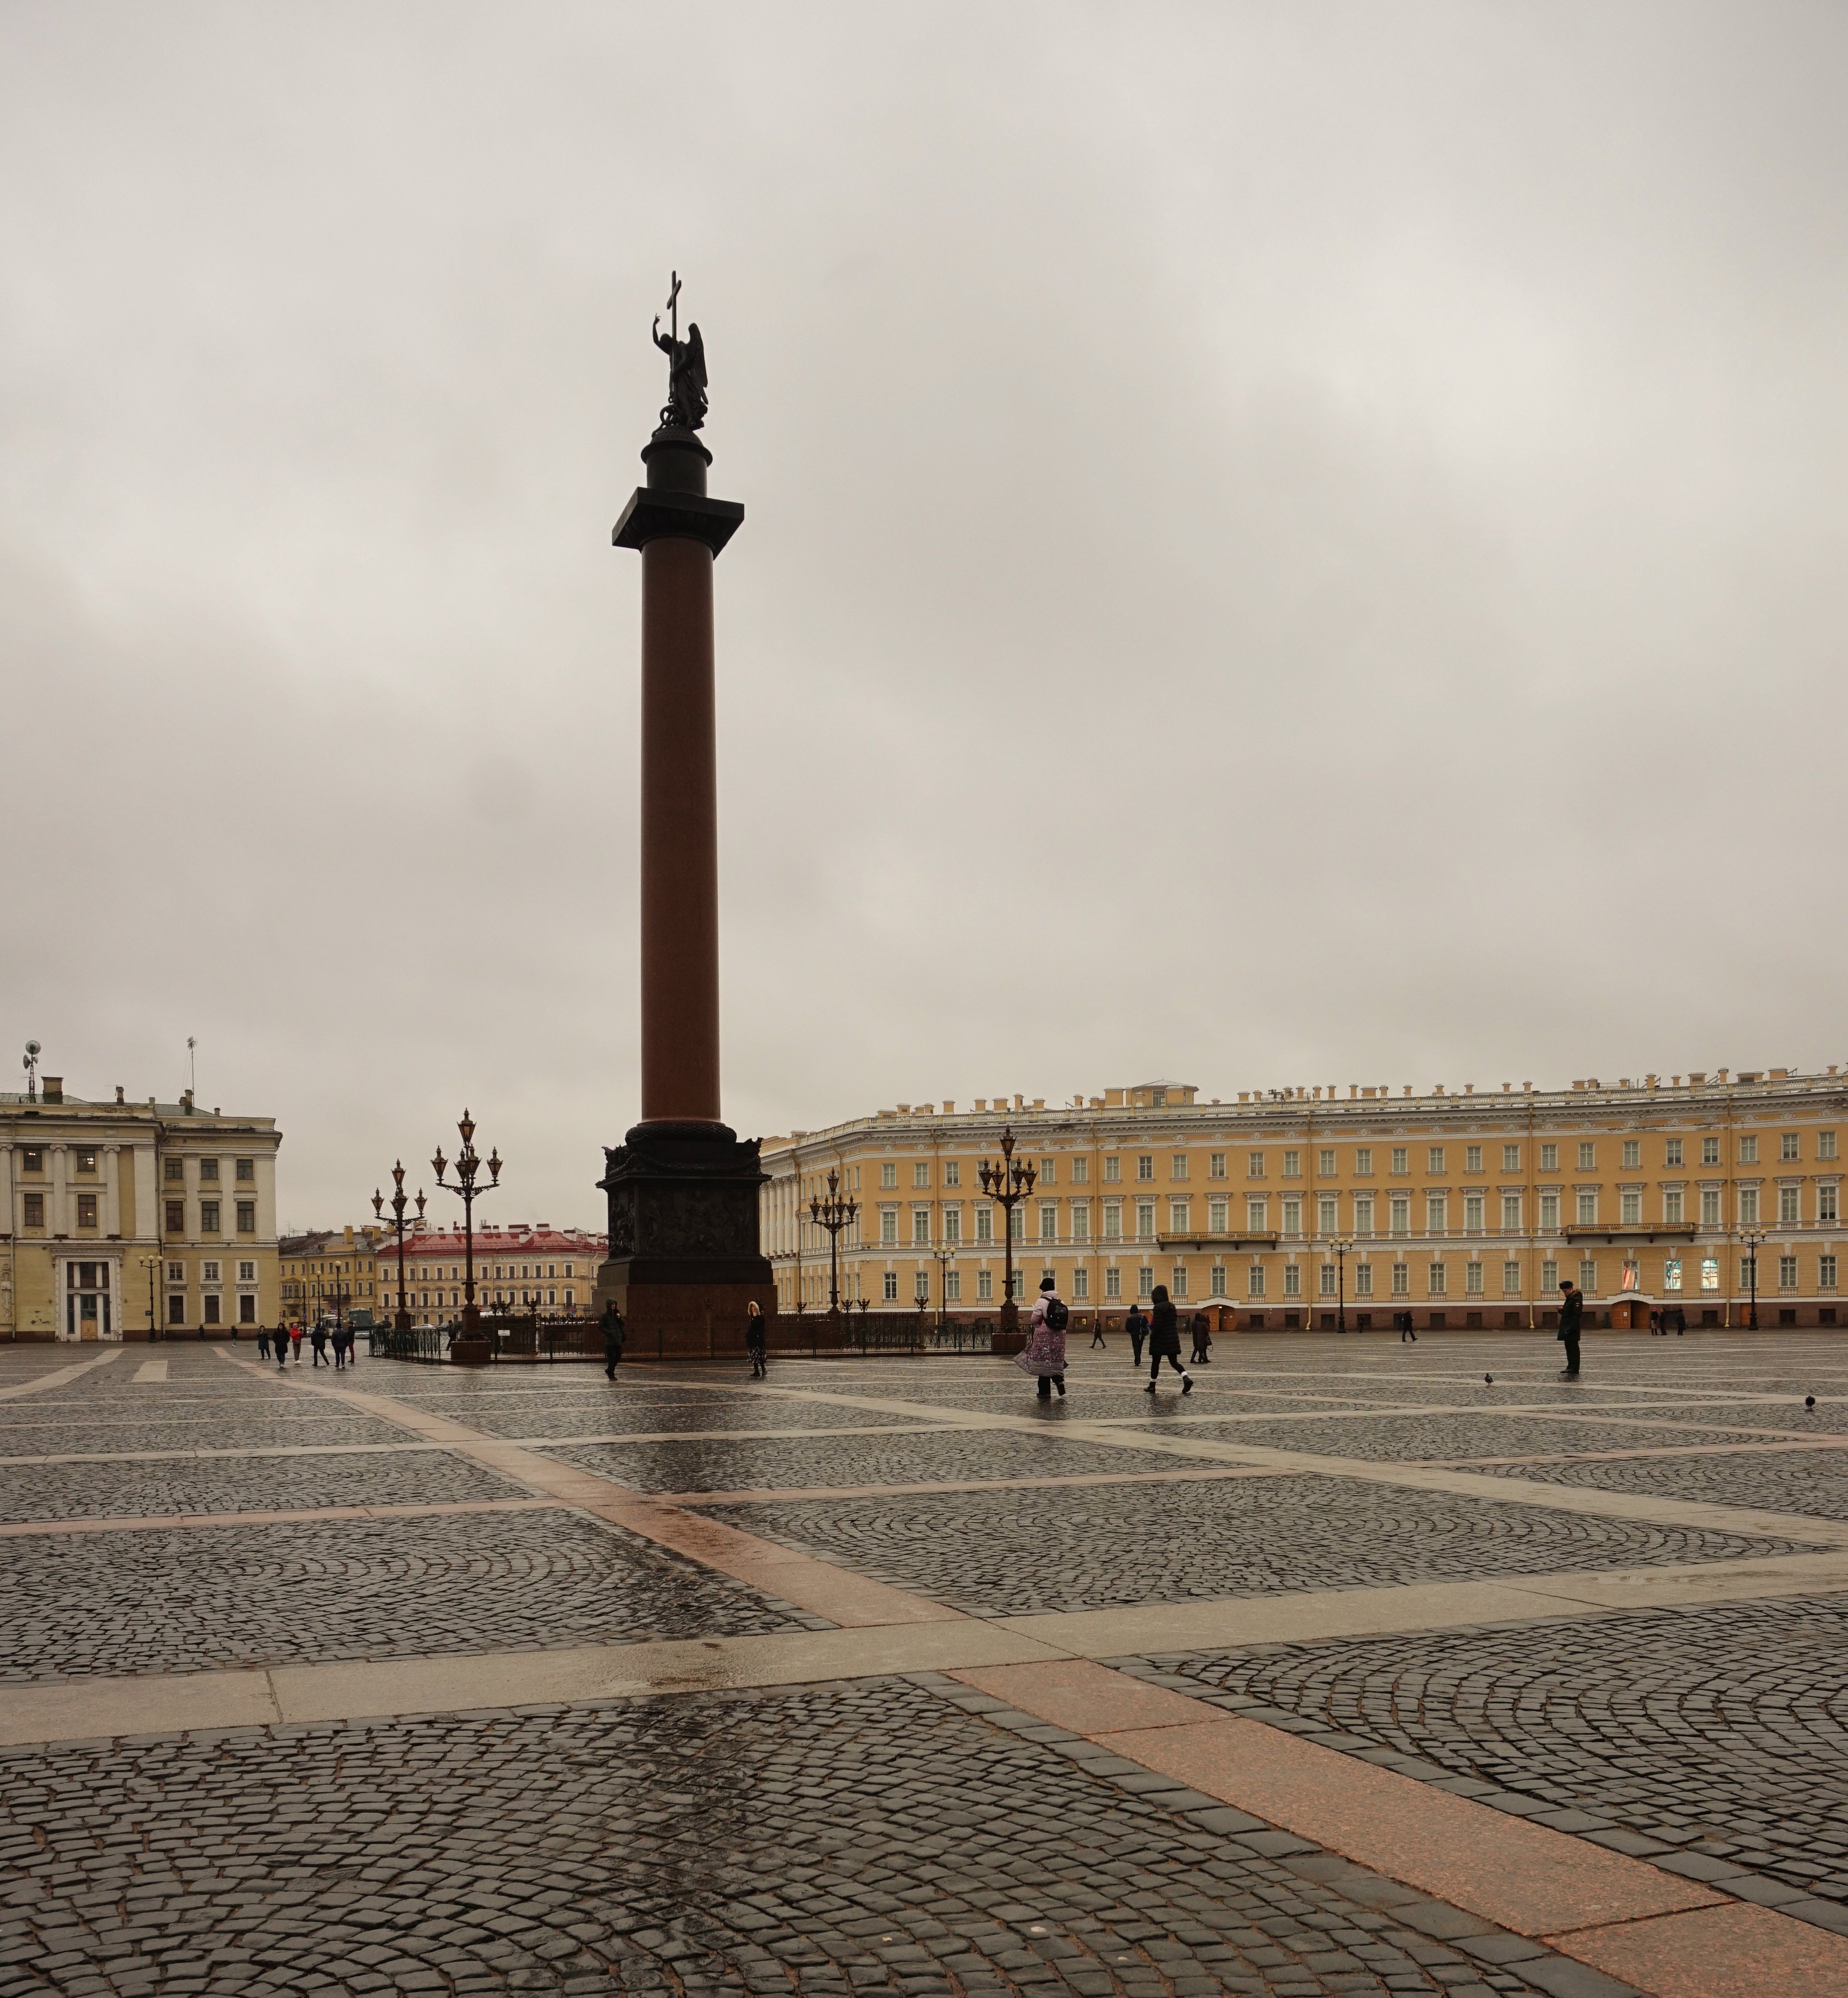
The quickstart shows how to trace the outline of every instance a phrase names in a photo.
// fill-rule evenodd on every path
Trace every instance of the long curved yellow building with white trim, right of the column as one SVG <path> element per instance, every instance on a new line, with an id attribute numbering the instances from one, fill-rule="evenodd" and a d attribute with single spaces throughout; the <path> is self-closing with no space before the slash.
<path id="1" fill-rule="evenodd" d="M 1231 1331 L 1540 1327 L 1562 1281 L 1592 1325 L 1834 1325 L 1848 1075 L 1790 1069 L 1568 1089 L 1247 1091 L 1187 1083 L 901 1103 L 763 1141 L 779 1309 L 827 1309 L 827 1175 L 859 1203 L 841 1299 L 979 1315 L 1003 1295 L 981 1165 L 1035 1169 L 1013 1211 L 1015 1295 L 1051 1275 L 1123 1313 L 1165 1283 Z"/>

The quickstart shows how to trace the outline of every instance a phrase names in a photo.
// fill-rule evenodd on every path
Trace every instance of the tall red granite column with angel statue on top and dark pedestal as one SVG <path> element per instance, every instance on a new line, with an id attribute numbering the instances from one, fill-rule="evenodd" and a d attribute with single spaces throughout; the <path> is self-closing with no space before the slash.
<path id="1" fill-rule="evenodd" d="M 647 484 L 611 535 L 641 551 L 641 1121 L 605 1147 L 609 1261 L 629 1351 L 741 1345 L 745 1303 L 777 1309 L 759 1249 L 757 1139 L 719 1117 L 719 799 L 713 741 L 713 559 L 745 509 L 711 500 L 699 442 L 705 344 L 667 298 L 667 408 L 641 452 Z"/>

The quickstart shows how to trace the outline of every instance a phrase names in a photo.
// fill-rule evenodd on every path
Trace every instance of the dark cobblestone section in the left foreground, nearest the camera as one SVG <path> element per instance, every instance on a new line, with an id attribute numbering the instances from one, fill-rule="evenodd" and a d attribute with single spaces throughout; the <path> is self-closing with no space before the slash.
<path id="1" fill-rule="evenodd" d="M 0 1992 L 1542 1988 L 1063 1746 L 883 1680 L 0 1752 Z"/>

